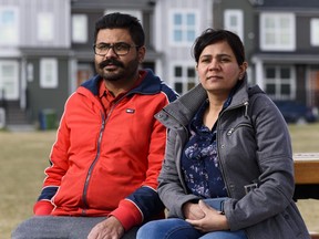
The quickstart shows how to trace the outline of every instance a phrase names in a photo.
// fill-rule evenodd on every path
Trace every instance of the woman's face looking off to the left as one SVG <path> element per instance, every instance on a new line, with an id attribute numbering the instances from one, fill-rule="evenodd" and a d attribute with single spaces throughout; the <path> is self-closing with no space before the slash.
<path id="1" fill-rule="evenodd" d="M 210 94 L 227 98 L 238 80 L 243 80 L 247 63 L 238 65 L 226 41 L 207 45 L 199 55 L 196 70 L 203 87 Z"/>

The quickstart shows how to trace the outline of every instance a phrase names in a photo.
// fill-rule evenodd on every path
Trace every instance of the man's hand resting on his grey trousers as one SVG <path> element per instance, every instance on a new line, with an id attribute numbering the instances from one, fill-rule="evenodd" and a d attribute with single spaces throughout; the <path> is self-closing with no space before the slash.
<path id="1" fill-rule="evenodd" d="M 92 228 L 88 239 L 120 239 L 124 235 L 124 228 L 113 216 Z"/>

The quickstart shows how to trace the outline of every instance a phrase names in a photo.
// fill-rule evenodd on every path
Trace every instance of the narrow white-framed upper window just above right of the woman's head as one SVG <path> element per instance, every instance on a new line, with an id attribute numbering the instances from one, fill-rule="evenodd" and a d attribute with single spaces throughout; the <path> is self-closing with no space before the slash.
<path id="1" fill-rule="evenodd" d="M 244 42 L 244 13 L 243 10 L 225 10 L 224 29 L 236 33 Z"/>

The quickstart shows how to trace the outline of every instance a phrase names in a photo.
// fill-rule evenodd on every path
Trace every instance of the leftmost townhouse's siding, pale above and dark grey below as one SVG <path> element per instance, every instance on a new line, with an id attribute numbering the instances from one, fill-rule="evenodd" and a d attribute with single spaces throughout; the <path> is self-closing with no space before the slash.
<path id="1" fill-rule="evenodd" d="M 39 112 L 44 108 L 54 108 L 60 118 L 64 107 L 64 101 L 69 95 L 69 64 L 70 61 L 70 0 L 0 0 L 0 8 L 14 7 L 18 9 L 19 40 L 18 44 L 0 44 L 0 62 L 14 55 L 18 67 L 18 98 L 7 98 L 8 114 L 20 110 L 20 114 L 27 116 L 27 122 L 38 122 Z M 39 28 L 43 22 L 39 20 L 39 13 L 51 14 L 49 24 L 52 31 L 45 32 L 45 28 Z M 45 25 L 44 25 L 45 27 Z M 42 39 L 39 31 L 43 30 Z M 50 28 L 49 28 L 50 29 Z M 41 37 L 41 35 L 40 35 Z M 40 86 L 39 62 L 42 58 L 53 58 L 58 61 L 58 87 L 43 89 Z M 27 66 L 32 67 L 32 79 L 28 79 Z M 12 104 L 10 104 L 10 102 Z M 7 115 L 8 115 L 7 114 Z M 14 119 L 14 117 L 12 117 Z M 12 121 L 11 118 L 11 121 Z M 17 124 L 14 121 L 8 124 Z M 20 123 L 19 123 L 20 124 Z"/>

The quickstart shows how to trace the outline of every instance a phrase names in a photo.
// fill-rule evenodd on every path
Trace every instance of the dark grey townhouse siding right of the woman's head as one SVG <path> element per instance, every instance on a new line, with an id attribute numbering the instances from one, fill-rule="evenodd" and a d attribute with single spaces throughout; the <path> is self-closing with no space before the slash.
<path id="1" fill-rule="evenodd" d="M 319 46 L 310 43 L 310 21 L 319 18 L 319 2 L 317 0 L 217 0 L 214 1 L 214 28 L 224 28 L 224 12 L 234 9 L 244 11 L 243 40 L 246 59 L 249 63 L 249 81 L 259 84 L 272 100 L 290 100 L 318 108 Z M 274 44 L 272 49 L 267 45 L 266 50 L 263 50 L 260 19 L 264 13 L 294 15 L 296 25 L 290 30 L 295 32 L 292 35 L 295 39 L 289 46 L 284 45 L 286 50 L 280 49 L 282 45 L 278 46 L 278 42 Z M 271 69 L 274 72 L 270 75 L 275 74 L 275 77 L 272 75 L 267 79 L 266 69 Z M 280 71 L 286 71 L 282 73 L 286 76 L 282 76 Z M 267 85 L 270 85 L 270 92 L 274 91 L 271 84 L 276 85 L 275 94 L 267 92 Z M 288 84 L 290 93 L 287 93 L 289 92 Z M 280 91 L 278 91 L 279 89 Z"/>

